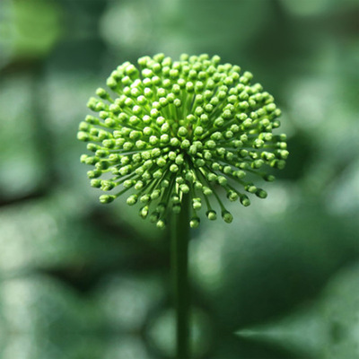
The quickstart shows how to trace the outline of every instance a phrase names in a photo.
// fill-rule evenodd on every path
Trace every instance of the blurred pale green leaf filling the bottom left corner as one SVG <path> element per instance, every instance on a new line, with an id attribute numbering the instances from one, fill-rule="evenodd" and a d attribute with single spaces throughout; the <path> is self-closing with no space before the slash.
<path id="1" fill-rule="evenodd" d="M 46 276 L 2 281 L 0 316 L 2 359 L 64 358 L 66 351 L 74 350 L 74 338 L 99 322 L 91 302 L 80 301 L 69 288 Z"/>

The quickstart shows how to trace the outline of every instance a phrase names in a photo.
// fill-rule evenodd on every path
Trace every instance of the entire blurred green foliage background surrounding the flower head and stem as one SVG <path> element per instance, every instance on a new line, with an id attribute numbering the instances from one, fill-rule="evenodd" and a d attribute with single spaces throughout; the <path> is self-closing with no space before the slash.
<path id="1" fill-rule="evenodd" d="M 1 0 L 0 358 L 171 356 L 167 233 L 99 204 L 75 138 L 112 69 L 158 52 L 251 71 L 291 153 L 192 232 L 196 358 L 359 357 L 358 23 L 355 0 Z"/>

